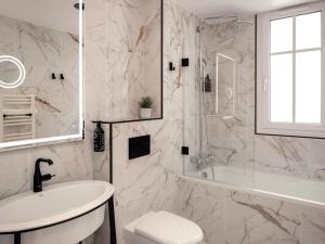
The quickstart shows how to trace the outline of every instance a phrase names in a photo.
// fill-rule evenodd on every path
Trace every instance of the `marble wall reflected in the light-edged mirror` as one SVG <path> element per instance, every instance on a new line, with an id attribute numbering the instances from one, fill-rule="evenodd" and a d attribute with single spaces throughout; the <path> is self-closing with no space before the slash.
<path id="1" fill-rule="evenodd" d="M 1 103 L 2 95 L 35 95 L 36 138 L 79 131 L 78 51 L 79 41 L 75 34 L 0 16 L 0 55 L 13 55 L 26 68 L 22 86 L 11 90 L 0 88 Z M 1 73 L 1 79 L 13 80 L 3 77 L 11 73 Z M 52 73 L 56 75 L 55 80 Z M 60 74 L 64 74 L 64 80 L 60 79 Z M 8 133 L 20 129 L 5 128 Z"/>

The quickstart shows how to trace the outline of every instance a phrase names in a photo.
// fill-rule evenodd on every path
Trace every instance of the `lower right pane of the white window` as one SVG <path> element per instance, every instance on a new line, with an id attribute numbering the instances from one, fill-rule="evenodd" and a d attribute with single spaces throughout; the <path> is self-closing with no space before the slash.
<path id="1" fill-rule="evenodd" d="M 321 123 L 321 51 L 297 53 L 296 121 Z"/>

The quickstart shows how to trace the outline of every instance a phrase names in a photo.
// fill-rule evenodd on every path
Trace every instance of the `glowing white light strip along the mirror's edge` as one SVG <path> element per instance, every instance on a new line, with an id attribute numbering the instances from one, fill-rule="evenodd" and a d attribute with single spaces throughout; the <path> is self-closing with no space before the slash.
<path id="1" fill-rule="evenodd" d="M 78 0 L 79 5 L 82 5 L 83 0 Z M 69 136 L 60 136 L 60 137 L 51 137 L 51 138 L 40 138 L 32 140 L 23 140 L 16 142 L 4 142 L 0 143 L 0 152 L 11 151 L 11 150 L 20 150 L 20 149 L 28 149 L 41 145 L 50 145 L 73 141 L 81 141 L 83 140 L 83 131 L 84 131 L 84 104 L 83 104 L 83 12 L 79 10 L 79 67 L 78 67 L 78 81 L 79 81 L 79 132 L 77 134 Z"/>

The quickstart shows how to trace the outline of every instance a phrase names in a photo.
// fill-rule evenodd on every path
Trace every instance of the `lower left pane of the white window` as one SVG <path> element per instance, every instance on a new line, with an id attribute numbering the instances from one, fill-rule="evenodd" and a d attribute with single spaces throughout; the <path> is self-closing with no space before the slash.
<path id="1" fill-rule="evenodd" d="M 271 56 L 271 121 L 292 123 L 292 54 Z"/>

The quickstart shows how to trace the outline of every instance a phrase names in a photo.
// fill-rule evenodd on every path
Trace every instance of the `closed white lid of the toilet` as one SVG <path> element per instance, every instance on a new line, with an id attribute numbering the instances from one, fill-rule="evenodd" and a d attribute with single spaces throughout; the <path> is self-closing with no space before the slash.
<path id="1" fill-rule="evenodd" d="M 203 231 L 196 223 L 167 211 L 152 214 L 134 231 L 160 244 L 198 244 L 203 240 Z"/>

